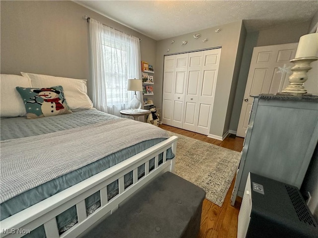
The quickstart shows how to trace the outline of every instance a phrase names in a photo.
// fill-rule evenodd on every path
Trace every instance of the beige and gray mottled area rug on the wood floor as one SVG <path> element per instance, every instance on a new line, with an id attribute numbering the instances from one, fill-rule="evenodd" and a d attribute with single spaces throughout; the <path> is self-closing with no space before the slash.
<path id="1" fill-rule="evenodd" d="M 239 166 L 240 153 L 201 140 L 178 136 L 175 174 L 206 191 L 206 199 L 222 206 Z"/>

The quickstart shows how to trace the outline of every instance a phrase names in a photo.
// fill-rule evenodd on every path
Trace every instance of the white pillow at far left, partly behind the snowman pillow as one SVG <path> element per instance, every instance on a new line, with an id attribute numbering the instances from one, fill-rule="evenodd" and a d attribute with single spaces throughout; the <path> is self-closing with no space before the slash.
<path id="1" fill-rule="evenodd" d="M 31 87 L 27 77 L 14 74 L 0 74 L 0 116 L 1 118 L 24 117 L 23 100 L 15 87 Z"/>

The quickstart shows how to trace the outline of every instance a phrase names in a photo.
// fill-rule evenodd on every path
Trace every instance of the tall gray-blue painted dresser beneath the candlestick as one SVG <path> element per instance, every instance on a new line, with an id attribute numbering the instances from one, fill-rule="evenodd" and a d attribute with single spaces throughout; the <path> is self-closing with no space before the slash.
<path id="1" fill-rule="evenodd" d="M 301 187 L 318 142 L 318 96 L 254 97 L 231 204 L 248 172 Z"/>

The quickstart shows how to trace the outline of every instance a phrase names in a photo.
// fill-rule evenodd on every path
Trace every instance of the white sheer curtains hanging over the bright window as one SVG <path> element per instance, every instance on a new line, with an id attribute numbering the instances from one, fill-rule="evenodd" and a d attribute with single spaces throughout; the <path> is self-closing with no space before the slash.
<path id="1" fill-rule="evenodd" d="M 140 40 L 90 18 L 92 101 L 97 110 L 120 116 L 135 92 L 127 91 L 129 78 L 141 79 Z M 142 92 L 137 92 L 143 102 Z"/>

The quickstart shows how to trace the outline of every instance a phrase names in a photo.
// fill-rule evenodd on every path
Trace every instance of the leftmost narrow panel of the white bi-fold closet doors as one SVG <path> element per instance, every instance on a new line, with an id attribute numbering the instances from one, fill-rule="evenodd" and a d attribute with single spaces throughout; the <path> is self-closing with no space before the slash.
<path id="1" fill-rule="evenodd" d="M 172 125 L 175 55 L 164 57 L 163 89 L 162 89 L 162 123 Z"/>

